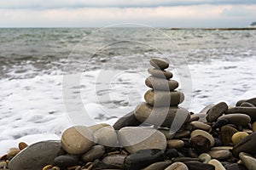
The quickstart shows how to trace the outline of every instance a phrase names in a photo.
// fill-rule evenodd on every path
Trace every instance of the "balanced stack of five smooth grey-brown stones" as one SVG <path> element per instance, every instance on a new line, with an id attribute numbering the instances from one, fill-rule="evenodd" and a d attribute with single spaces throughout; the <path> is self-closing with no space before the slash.
<path id="1" fill-rule="evenodd" d="M 137 106 L 134 115 L 143 124 L 155 127 L 172 127 L 177 131 L 189 120 L 189 111 L 178 107 L 184 100 L 184 94 L 177 91 L 178 82 L 172 79 L 172 72 L 166 71 L 169 63 L 163 59 L 150 59 L 149 76 L 145 83 L 149 89 L 144 94 L 146 102 Z"/>

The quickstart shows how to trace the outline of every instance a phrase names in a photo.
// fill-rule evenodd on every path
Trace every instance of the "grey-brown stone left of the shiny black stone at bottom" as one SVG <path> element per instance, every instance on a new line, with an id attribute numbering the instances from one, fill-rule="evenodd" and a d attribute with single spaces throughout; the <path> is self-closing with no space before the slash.
<path id="1" fill-rule="evenodd" d="M 124 167 L 125 155 L 110 155 L 103 158 L 102 162 L 109 168 L 122 169 Z"/>

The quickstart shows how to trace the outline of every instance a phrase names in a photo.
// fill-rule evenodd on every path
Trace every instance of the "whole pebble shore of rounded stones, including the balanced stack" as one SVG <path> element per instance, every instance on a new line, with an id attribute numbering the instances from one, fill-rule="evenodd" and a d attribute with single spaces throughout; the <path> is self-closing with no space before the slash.
<path id="1" fill-rule="evenodd" d="M 165 71 L 169 64 L 150 64 L 152 89 L 135 111 L 113 126 L 69 127 L 61 140 L 20 142 L 0 157 L 0 170 L 256 170 L 256 98 L 189 113 L 178 107 L 184 97 Z"/>

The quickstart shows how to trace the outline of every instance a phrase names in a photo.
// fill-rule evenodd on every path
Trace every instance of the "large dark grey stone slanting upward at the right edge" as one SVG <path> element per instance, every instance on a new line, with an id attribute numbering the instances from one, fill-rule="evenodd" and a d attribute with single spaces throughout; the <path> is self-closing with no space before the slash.
<path id="1" fill-rule="evenodd" d="M 256 132 L 249 134 L 244 139 L 241 139 L 241 141 L 236 144 L 233 148 L 233 155 L 238 156 L 240 152 L 246 152 L 250 155 L 256 154 Z"/>

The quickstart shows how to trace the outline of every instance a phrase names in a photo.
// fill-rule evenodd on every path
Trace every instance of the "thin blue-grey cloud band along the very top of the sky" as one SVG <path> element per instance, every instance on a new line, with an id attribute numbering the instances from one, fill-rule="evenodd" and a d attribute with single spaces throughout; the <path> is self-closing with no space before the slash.
<path id="1" fill-rule="evenodd" d="M 200 4 L 256 4 L 255 0 L 0 0 L 0 8 L 143 8 Z"/>

